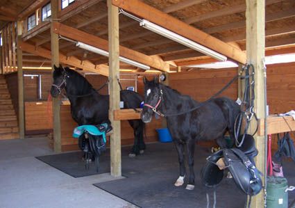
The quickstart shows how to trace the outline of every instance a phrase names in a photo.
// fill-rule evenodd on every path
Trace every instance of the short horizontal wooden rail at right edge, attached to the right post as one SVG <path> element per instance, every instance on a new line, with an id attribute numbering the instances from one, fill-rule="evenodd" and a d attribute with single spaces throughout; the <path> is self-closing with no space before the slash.
<path id="1" fill-rule="evenodd" d="M 269 115 L 267 117 L 267 134 L 278 134 L 295 131 L 295 121 L 292 116 Z M 264 135 L 264 119 L 261 119 L 258 127 L 258 135 Z"/>

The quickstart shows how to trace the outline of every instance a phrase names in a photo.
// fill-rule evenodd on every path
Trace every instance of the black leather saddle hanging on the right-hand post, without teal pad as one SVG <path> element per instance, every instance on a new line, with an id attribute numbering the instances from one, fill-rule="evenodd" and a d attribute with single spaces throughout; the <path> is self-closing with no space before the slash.
<path id="1" fill-rule="evenodd" d="M 254 138 L 246 135 L 244 143 L 239 148 L 223 149 L 214 152 L 207 158 L 207 163 L 201 170 L 201 180 L 205 186 L 217 186 L 224 177 L 224 170 L 217 166 L 223 159 L 224 168 L 233 175 L 235 184 L 247 195 L 256 195 L 262 189 L 260 171 L 255 167 L 253 157 L 258 154 Z"/>

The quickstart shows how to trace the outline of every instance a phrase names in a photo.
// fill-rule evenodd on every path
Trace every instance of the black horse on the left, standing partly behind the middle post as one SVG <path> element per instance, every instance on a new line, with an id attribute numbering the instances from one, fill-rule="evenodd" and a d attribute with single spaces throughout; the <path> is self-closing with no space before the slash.
<path id="1" fill-rule="evenodd" d="M 92 85 L 78 72 L 54 66 L 53 84 L 50 93 L 52 97 L 58 97 L 61 90 L 65 88 L 69 102 L 71 103 L 71 117 L 78 125 L 100 125 L 109 123 L 109 95 L 99 94 Z M 121 101 L 124 107 L 136 109 L 140 107 L 143 98 L 131 90 L 121 90 Z M 134 145 L 129 154 L 134 157 L 142 154 L 145 150 L 144 144 L 144 122 L 142 120 L 128 120 L 134 130 Z"/>

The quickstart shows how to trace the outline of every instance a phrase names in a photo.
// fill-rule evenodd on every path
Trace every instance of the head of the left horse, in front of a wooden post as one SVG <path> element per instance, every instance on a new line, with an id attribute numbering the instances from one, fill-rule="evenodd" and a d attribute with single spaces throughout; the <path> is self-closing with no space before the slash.
<path id="1" fill-rule="evenodd" d="M 61 65 L 59 67 L 56 67 L 54 65 L 54 72 L 53 72 L 53 83 L 51 85 L 50 94 L 52 97 L 58 97 L 60 95 L 61 91 L 65 86 L 67 86 L 67 78 L 68 74 Z"/>

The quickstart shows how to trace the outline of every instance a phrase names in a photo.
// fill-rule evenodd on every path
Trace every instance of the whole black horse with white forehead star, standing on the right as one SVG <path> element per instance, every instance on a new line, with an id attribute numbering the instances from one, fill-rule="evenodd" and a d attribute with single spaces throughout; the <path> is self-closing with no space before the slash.
<path id="1" fill-rule="evenodd" d="M 196 141 L 217 140 L 226 146 L 224 134 L 228 130 L 234 140 L 234 123 L 239 106 L 226 97 L 210 99 L 203 104 L 187 95 L 159 83 L 158 79 L 148 81 L 144 77 L 144 109 L 141 118 L 151 122 L 153 113 L 164 114 L 167 127 L 174 140 L 180 164 L 180 176 L 175 186 L 182 186 L 185 178 L 184 148 L 187 147 L 189 179 L 186 189 L 194 189 L 194 147 Z M 195 109 L 194 111 L 189 111 Z M 181 114 L 180 114 L 181 113 Z M 178 115 L 177 115 L 178 114 Z"/>

